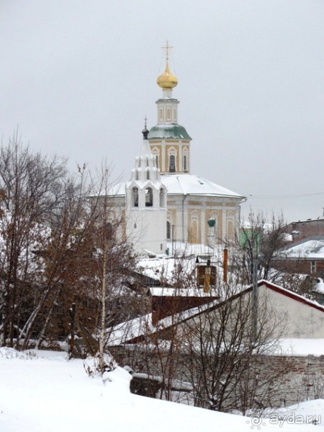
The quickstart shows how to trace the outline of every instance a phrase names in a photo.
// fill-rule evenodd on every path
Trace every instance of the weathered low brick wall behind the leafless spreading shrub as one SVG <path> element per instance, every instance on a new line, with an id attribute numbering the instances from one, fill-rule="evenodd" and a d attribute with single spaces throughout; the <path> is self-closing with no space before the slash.
<path id="1" fill-rule="evenodd" d="M 157 356 L 145 347 L 113 347 L 111 353 L 121 366 L 131 366 L 133 371 L 151 376 L 163 376 L 161 367 L 168 361 L 168 353 L 161 358 L 161 353 Z M 178 355 L 173 364 L 173 379 L 188 381 L 183 374 L 185 364 L 186 356 Z M 252 366 L 253 379 L 266 383 L 263 394 L 255 396 L 253 408 L 278 408 L 324 398 L 324 356 L 262 356 L 255 358 Z"/>

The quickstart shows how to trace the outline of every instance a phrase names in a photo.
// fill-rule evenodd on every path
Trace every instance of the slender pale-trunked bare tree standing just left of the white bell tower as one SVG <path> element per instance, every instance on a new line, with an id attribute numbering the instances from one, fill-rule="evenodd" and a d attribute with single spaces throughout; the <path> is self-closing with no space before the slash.
<path id="1" fill-rule="evenodd" d="M 93 256 L 91 269 L 94 298 L 98 302 L 98 321 L 96 336 L 98 340 L 98 371 L 103 373 L 106 364 L 106 345 L 109 333 L 106 329 L 118 316 L 123 315 L 118 306 L 118 299 L 123 296 L 129 275 L 135 266 L 135 257 L 131 245 L 126 241 L 123 232 L 125 215 L 116 217 L 113 201 L 109 195 L 111 189 L 110 169 L 103 165 L 96 182 L 96 194 L 91 198 L 93 223 L 91 224 L 91 245 Z"/>

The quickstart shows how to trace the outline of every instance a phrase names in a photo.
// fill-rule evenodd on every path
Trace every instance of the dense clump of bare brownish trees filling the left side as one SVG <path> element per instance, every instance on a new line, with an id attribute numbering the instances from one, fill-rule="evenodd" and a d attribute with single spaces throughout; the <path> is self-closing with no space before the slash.
<path id="1" fill-rule="evenodd" d="M 66 161 L 32 154 L 18 136 L 0 156 L 1 343 L 57 343 L 70 333 L 72 304 L 89 338 L 103 332 L 107 315 L 117 316 L 111 293 L 116 299 L 133 263 L 130 246 L 116 236 L 123 221 L 112 216 L 108 171 L 99 186 L 85 166 L 69 176 Z M 102 353 L 102 333 L 99 339 Z"/>

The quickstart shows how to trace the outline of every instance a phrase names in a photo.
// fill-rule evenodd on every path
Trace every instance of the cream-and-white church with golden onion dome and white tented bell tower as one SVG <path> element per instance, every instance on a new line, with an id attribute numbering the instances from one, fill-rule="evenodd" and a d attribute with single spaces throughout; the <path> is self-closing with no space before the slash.
<path id="1" fill-rule="evenodd" d="M 191 174 L 191 136 L 178 124 L 177 77 L 168 66 L 158 76 L 162 96 L 157 124 L 143 130 L 131 179 L 110 192 L 113 216 L 125 216 L 122 235 L 138 251 L 165 253 L 166 242 L 231 243 L 238 235 L 244 197 Z"/>

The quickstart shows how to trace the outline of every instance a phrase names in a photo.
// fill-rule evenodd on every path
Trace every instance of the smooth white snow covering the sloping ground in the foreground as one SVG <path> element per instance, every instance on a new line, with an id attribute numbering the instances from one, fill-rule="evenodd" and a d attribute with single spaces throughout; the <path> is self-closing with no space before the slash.
<path id="1" fill-rule="evenodd" d="M 67 361 L 65 353 L 30 352 L 0 348 L 1 432 L 324 431 L 323 400 L 287 411 L 291 424 L 280 424 L 275 413 L 268 419 L 248 418 L 136 396 L 129 392 L 130 375 L 122 368 L 103 384 L 88 377 L 81 360 Z M 323 415 L 323 421 L 298 424 L 306 414 Z"/>

